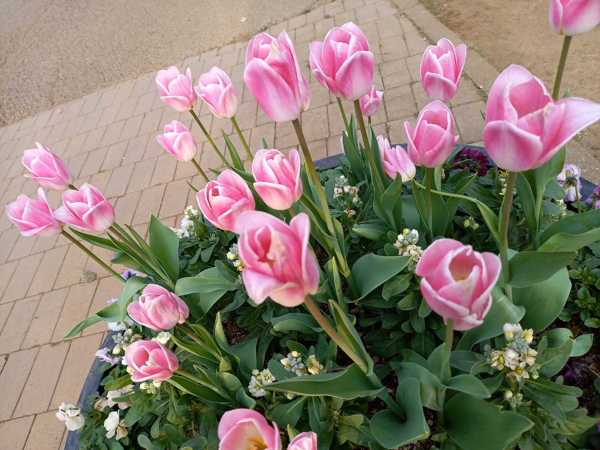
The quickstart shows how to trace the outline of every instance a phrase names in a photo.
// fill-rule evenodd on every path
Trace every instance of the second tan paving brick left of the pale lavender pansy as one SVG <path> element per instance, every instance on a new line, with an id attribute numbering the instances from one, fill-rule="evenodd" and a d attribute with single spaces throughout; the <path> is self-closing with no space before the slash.
<path id="1" fill-rule="evenodd" d="M 58 382 L 68 349 L 68 342 L 40 347 L 19 403 L 14 409 L 13 417 L 43 413 L 48 410 L 53 394 L 52 388 Z"/>

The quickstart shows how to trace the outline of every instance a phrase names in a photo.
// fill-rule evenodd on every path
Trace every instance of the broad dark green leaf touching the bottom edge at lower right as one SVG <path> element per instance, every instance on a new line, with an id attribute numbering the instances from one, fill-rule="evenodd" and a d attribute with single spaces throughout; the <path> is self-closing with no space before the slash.
<path id="1" fill-rule="evenodd" d="M 482 435 L 473 430 L 485 430 L 485 448 L 504 450 L 521 433 L 533 427 L 533 422 L 512 411 L 500 411 L 485 400 L 461 392 L 444 406 L 446 431 L 454 443 L 465 450 L 481 449 Z"/>

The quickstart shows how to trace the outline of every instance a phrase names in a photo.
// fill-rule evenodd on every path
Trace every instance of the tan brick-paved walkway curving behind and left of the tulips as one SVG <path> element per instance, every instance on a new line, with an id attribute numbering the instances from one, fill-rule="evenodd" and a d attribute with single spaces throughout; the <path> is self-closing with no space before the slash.
<path id="1" fill-rule="evenodd" d="M 428 36 L 437 40 L 442 37 L 438 33 L 449 32 L 436 19 L 424 19 L 418 7 L 416 1 L 337 0 L 269 29 L 271 34 L 289 32 L 310 83 L 311 106 L 302 115 L 302 126 L 314 160 L 340 153 L 343 121 L 335 97 L 310 72 L 308 43 L 322 40 L 334 25 L 351 20 L 361 26 L 376 55 L 374 84 L 385 92 L 385 103 L 373 116 L 374 129 L 392 143 L 404 143 L 403 122 L 414 125 L 419 109 L 428 103 L 419 82 Z M 415 22 L 424 25 L 419 29 Z M 455 44 L 460 42 L 455 39 Z M 256 151 L 264 138 L 269 146 L 287 151 L 298 146 L 292 125 L 271 122 L 242 82 L 246 46 L 245 41 L 232 44 L 175 64 L 182 69 L 189 66 L 194 82 L 213 65 L 223 68 L 236 83 L 241 102 L 236 118 L 251 149 Z M 467 59 L 467 74 L 475 77 L 489 70 L 477 65 Z M 196 206 L 186 181 L 196 188 L 202 188 L 203 182 L 192 164 L 176 161 L 158 145 L 155 136 L 162 133 L 163 125 L 178 119 L 191 127 L 205 170 L 220 168 L 222 163 L 190 115 L 175 112 L 160 100 L 154 78 L 152 72 L 0 128 L 0 203 L 12 202 L 21 193 L 35 195 L 38 185 L 22 176 L 21 157 L 38 141 L 67 161 L 76 174 L 75 185 L 90 182 L 105 194 L 119 223 L 131 224 L 145 235 L 150 214 L 155 214 L 176 226 L 185 206 Z M 469 77 L 462 80 L 449 106 L 461 140 L 481 142 L 479 110 L 485 103 Z M 347 113 L 352 110 L 349 103 L 344 107 Z M 220 148 L 225 148 L 219 137 L 223 128 L 244 155 L 229 121 L 214 118 L 202 102 L 196 110 Z M 55 207 L 59 194 L 48 194 Z M 64 445 L 65 427 L 54 412 L 62 401 L 77 400 L 106 325 L 97 323 L 69 340 L 62 336 L 103 308 L 107 299 L 118 297 L 121 284 L 62 237 L 23 238 L 4 211 L 0 232 L 0 352 L 4 353 L 0 356 L 0 442 L 11 442 L 14 450 L 58 449 Z M 104 260 L 110 257 L 101 248 L 92 250 Z"/>

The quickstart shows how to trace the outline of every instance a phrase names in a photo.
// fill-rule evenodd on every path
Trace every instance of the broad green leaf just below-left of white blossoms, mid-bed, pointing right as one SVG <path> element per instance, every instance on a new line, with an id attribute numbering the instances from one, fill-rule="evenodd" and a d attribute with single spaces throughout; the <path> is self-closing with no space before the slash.
<path id="1" fill-rule="evenodd" d="M 352 266 L 352 277 L 359 290 L 359 298 L 365 298 L 373 289 L 398 274 L 409 263 L 410 256 L 380 256 L 368 253 Z"/>

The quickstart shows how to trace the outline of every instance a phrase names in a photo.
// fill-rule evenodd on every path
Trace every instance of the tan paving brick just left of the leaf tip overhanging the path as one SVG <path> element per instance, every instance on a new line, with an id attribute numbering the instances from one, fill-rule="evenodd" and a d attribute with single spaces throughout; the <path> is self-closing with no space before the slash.
<path id="1" fill-rule="evenodd" d="M 25 340 L 21 344 L 22 349 L 50 343 L 56 321 L 61 315 L 62 305 L 65 303 L 68 292 L 69 288 L 63 287 L 62 289 L 46 292 L 41 296 L 29 324 Z"/>

